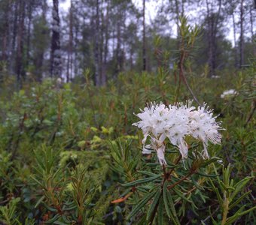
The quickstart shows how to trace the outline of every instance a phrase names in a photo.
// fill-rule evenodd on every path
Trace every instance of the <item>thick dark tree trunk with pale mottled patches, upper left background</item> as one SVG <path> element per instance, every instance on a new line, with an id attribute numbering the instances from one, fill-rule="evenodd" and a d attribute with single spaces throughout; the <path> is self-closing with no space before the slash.
<path id="1" fill-rule="evenodd" d="M 53 0 L 53 24 L 50 47 L 50 76 L 61 77 L 61 52 L 60 52 L 60 26 L 59 26 L 59 0 Z"/>

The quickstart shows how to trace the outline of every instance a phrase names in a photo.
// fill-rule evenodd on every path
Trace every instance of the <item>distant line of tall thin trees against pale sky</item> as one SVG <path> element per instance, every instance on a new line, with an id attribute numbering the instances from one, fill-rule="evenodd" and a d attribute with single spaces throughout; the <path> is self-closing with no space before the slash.
<path id="1" fill-rule="evenodd" d="M 172 68 L 179 30 L 172 34 L 169 27 L 192 10 L 197 15 L 188 17 L 190 24 L 202 27 L 194 69 L 207 68 L 213 76 L 242 68 L 256 55 L 254 0 L 163 1 L 150 25 L 145 12 L 151 3 L 145 0 L 142 7 L 129 0 L 70 0 L 64 13 L 58 0 L 50 1 L 0 1 L 1 77 L 5 71 L 18 83 L 44 77 L 70 82 L 89 68 L 96 86 L 103 86 L 122 71 Z M 227 40 L 230 29 L 233 43 Z"/>

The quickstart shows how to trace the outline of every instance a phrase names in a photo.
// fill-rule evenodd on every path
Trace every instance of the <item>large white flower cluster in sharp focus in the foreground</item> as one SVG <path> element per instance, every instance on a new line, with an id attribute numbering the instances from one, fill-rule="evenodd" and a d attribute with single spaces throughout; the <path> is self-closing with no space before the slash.
<path id="1" fill-rule="evenodd" d="M 185 136 L 193 136 L 203 142 L 203 157 L 209 158 L 207 151 L 208 142 L 220 143 L 220 123 L 212 117 L 212 110 L 206 107 L 191 106 L 192 101 L 187 104 L 175 106 L 164 104 L 152 104 L 137 114 L 141 119 L 134 126 L 142 128 L 144 138 L 142 139 L 143 154 L 151 154 L 151 149 L 157 151 L 157 157 L 161 165 L 166 164 L 164 157 L 165 139 L 168 138 L 172 145 L 176 145 L 181 152 L 182 158 L 187 157 L 187 143 Z M 145 145 L 150 137 L 151 144 Z"/>

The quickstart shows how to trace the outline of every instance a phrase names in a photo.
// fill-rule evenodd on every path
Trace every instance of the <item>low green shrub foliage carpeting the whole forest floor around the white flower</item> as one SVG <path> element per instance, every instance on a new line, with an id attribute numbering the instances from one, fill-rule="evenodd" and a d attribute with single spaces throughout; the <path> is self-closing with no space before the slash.
<path id="1" fill-rule="evenodd" d="M 136 121 L 133 113 L 147 102 L 169 104 L 175 98 L 190 98 L 184 86 L 175 96 L 175 78 L 166 69 L 154 75 L 120 74 L 102 88 L 88 78 L 79 84 L 27 83 L 13 95 L 7 94 L 9 88 L 2 89 L 0 221 L 146 224 L 153 218 L 157 224 L 210 220 L 220 224 L 226 191 L 232 196 L 226 223 L 251 224 L 255 219 L 250 209 L 255 158 L 252 70 L 223 71 L 221 82 L 187 75 L 194 94 L 220 114 L 226 130 L 221 131 L 221 145 L 209 145 L 209 154 L 215 156 L 210 160 L 189 154 L 183 164 L 177 161 L 177 149 L 166 143 L 166 178 L 155 154 L 142 156 L 138 149 L 142 133 L 131 125 Z M 227 89 L 236 89 L 237 94 L 220 98 Z M 192 139 L 186 141 L 194 151 L 203 148 Z M 224 167 L 229 163 L 233 167 L 228 178 L 220 159 Z"/>

